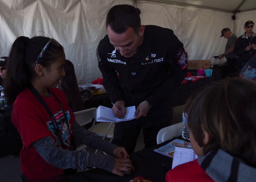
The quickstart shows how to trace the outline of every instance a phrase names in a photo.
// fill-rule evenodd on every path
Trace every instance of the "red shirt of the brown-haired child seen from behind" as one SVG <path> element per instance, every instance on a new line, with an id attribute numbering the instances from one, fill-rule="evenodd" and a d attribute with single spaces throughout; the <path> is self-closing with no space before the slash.
<path id="1" fill-rule="evenodd" d="M 174 167 L 165 176 L 166 182 L 214 182 L 198 164 L 197 159 Z"/>

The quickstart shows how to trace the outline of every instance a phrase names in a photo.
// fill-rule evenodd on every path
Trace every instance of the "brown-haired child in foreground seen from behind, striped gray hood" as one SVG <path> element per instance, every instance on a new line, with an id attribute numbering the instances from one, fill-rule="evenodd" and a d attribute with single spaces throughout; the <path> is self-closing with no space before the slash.
<path id="1" fill-rule="evenodd" d="M 166 181 L 255 181 L 256 84 L 233 77 L 208 84 L 185 112 L 198 159 L 175 167 Z"/>

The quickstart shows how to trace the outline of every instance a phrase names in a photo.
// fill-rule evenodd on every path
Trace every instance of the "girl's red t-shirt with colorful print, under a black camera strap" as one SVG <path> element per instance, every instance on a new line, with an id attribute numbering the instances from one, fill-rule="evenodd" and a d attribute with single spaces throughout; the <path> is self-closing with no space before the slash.
<path id="1" fill-rule="evenodd" d="M 74 114 L 68 107 L 65 94 L 58 88 L 49 88 L 58 97 L 66 112 L 71 133 L 72 123 L 75 120 Z M 65 121 L 61 106 L 54 96 L 42 98 L 47 103 L 55 117 L 55 121 L 60 128 L 63 142 L 66 149 L 70 148 L 70 132 Z M 62 121 L 64 124 L 62 124 Z M 14 102 L 12 112 L 12 122 L 18 129 L 23 142 L 23 149 L 20 152 L 21 171 L 29 181 L 57 181 L 67 177 L 63 169 L 56 168 L 48 164 L 30 145 L 32 142 L 46 136 L 51 136 L 62 147 L 61 142 L 57 141 L 54 124 L 50 116 L 37 100 L 37 98 L 27 88 L 23 90 Z"/>

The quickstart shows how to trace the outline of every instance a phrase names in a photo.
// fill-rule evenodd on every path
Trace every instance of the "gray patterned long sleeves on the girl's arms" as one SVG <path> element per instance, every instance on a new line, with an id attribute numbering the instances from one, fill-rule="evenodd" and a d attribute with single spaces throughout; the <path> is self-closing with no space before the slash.
<path id="1" fill-rule="evenodd" d="M 89 132 L 76 121 L 72 123 L 72 126 L 73 137 L 77 142 L 92 149 L 102 150 L 108 155 L 62 149 L 51 136 L 34 141 L 32 146 L 46 162 L 60 169 L 77 168 L 83 170 L 90 167 L 98 167 L 112 172 L 115 163 L 115 159 L 112 156 L 117 146 Z"/>

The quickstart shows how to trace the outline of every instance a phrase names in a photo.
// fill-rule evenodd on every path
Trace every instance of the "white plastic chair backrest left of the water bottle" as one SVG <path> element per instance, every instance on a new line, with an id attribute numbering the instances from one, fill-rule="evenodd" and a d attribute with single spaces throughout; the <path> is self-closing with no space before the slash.
<path id="1" fill-rule="evenodd" d="M 180 136 L 182 134 L 182 128 L 183 123 L 180 122 L 160 129 L 156 137 L 157 144 L 161 144 L 162 142 L 172 139 L 173 137 Z"/>

